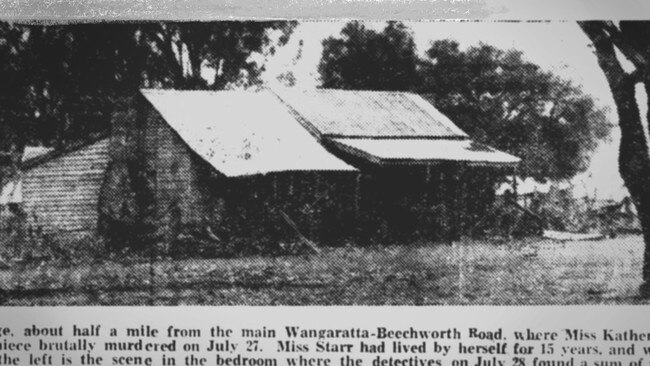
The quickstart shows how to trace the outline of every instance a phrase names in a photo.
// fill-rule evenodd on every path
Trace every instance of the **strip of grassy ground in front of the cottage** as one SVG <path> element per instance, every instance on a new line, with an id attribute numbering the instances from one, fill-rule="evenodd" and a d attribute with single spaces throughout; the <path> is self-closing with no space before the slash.
<path id="1" fill-rule="evenodd" d="M 324 248 L 234 259 L 0 270 L 4 305 L 636 304 L 643 240 Z"/>

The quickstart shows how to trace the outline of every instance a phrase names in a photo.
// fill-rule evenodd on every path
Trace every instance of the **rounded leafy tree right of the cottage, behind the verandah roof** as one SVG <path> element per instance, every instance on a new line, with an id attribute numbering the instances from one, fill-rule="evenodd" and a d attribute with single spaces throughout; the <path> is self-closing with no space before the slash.
<path id="1" fill-rule="evenodd" d="M 481 44 L 466 51 L 436 41 L 420 66 L 420 93 L 472 138 L 522 158 L 518 174 L 570 179 L 608 136 L 609 121 L 591 96 L 520 51 Z"/>

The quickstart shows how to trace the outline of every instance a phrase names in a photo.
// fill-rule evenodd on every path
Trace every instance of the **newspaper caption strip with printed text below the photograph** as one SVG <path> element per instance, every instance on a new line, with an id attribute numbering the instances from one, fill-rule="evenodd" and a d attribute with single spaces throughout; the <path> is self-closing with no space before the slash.
<path id="1" fill-rule="evenodd" d="M 650 364 L 642 307 L 85 307 L 4 314 L 11 317 L 0 329 L 2 365 Z"/>

